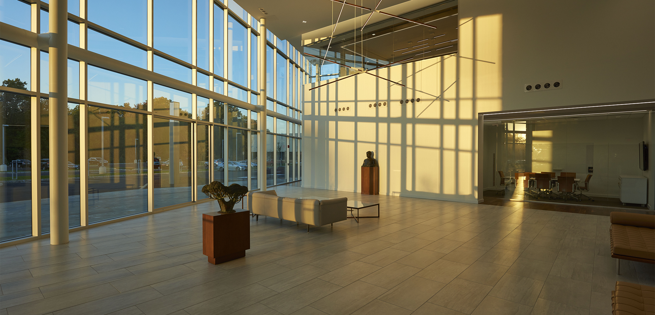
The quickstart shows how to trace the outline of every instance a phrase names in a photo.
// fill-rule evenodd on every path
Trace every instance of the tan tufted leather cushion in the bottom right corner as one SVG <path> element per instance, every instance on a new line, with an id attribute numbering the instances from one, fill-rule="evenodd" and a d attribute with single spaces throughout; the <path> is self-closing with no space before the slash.
<path id="1" fill-rule="evenodd" d="M 612 314 L 655 314 L 655 287 L 617 281 L 612 291 Z"/>

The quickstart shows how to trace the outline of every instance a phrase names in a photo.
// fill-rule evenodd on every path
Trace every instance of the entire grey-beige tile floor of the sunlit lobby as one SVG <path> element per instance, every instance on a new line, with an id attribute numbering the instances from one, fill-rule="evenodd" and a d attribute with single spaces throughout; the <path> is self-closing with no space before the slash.
<path id="1" fill-rule="evenodd" d="M 0 315 L 610 314 L 616 280 L 655 284 L 653 265 L 615 274 L 606 216 L 276 191 L 376 200 L 381 217 L 307 233 L 260 216 L 247 257 L 221 265 L 201 248 L 215 202 L 0 248 Z"/>

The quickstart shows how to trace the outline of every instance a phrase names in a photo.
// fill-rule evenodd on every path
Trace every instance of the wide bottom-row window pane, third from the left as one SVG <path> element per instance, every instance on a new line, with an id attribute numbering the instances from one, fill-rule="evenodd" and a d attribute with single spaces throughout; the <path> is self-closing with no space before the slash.
<path id="1" fill-rule="evenodd" d="M 84 114 L 89 221 L 147 212 L 147 115 L 93 106 Z M 154 171 L 159 171 L 156 163 Z"/>

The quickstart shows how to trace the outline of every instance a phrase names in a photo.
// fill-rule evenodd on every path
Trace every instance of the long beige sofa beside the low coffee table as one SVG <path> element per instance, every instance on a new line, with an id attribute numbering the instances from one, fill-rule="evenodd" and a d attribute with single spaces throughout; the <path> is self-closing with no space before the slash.
<path id="1" fill-rule="evenodd" d="M 327 200 L 289 198 L 276 195 L 275 191 L 248 193 L 248 210 L 257 215 L 276 217 L 320 227 L 346 219 L 348 198 Z"/>

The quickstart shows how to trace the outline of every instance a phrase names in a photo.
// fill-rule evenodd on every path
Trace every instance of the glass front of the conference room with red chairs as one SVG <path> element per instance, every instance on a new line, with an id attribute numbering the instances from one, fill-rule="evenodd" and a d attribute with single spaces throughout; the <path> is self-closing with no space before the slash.
<path id="1" fill-rule="evenodd" d="M 483 195 L 643 209 L 622 200 L 621 178 L 647 176 L 646 119 L 643 110 L 485 121 Z"/>

